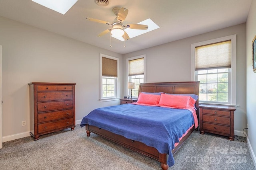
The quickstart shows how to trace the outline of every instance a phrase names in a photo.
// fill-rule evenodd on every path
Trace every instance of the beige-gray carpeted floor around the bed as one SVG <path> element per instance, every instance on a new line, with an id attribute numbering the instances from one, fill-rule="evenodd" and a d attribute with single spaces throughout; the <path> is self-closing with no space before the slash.
<path id="1" fill-rule="evenodd" d="M 194 131 L 169 170 L 255 170 L 246 140 Z M 3 143 L 1 170 L 160 170 L 160 163 L 76 126 Z"/>

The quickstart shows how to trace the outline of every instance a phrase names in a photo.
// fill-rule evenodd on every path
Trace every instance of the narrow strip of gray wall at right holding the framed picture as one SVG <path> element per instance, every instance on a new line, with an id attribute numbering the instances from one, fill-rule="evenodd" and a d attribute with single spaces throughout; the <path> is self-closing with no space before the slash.
<path id="1" fill-rule="evenodd" d="M 256 35 L 256 0 L 252 0 L 246 21 L 246 108 L 248 121 L 248 139 L 256 161 L 256 73 L 252 71 L 252 40 Z M 256 166 L 256 162 L 254 162 Z"/>

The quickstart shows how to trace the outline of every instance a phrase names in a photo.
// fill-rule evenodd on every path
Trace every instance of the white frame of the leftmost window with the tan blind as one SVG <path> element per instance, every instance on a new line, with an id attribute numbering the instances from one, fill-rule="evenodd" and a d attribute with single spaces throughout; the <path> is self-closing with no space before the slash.
<path id="1" fill-rule="evenodd" d="M 102 97 L 102 57 L 113 59 L 117 61 L 117 78 L 116 78 L 116 97 L 103 98 Z M 120 99 L 120 87 L 119 87 L 119 59 L 109 55 L 100 54 L 100 102 L 107 102 Z"/>

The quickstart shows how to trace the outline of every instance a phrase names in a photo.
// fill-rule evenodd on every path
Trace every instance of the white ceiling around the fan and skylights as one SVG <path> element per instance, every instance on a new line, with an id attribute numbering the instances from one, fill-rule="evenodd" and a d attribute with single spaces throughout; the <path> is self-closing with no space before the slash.
<path id="1" fill-rule="evenodd" d="M 178 39 L 245 23 L 252 0 L 109 0 L 106 7 L 94 0 L 78 0 L 62 15 L 31 0 L 0 0 L 0 16 L 20 21 L 120 54 L 153 47 Z M 87 21 L 96 18 L 112 22 L 112 8 L 129 10 L 124 25 L 150 18 L 160 28 L 124 42 L 110 34 L 97 35 L 109 25 Z M 1 23 L 0 23 L 1 24 Z"/>

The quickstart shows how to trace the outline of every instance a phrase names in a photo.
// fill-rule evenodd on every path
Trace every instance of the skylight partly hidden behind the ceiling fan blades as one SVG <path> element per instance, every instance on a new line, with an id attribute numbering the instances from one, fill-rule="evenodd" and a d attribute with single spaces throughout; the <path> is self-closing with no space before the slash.
<path id="1" fill-rule="evenodd" d="M 126 31 L 126 33 L 129 35 L 130 39 L 159 28 L 159 26 L 156 25 L 156 23 L 154 23 L 152 20 L 150 20 L 150 18 L 142 22 L 139 22 L 138 24 L 148 25 L 148 29 L 130 29 L 130 28 L 124 29 L 124 31 Z M 112 37 L 114 36 L 112 35 Z M 124 41 L 123 37 L 114 37 L 114 38 L 119 39 L 120 41 Z"/>

